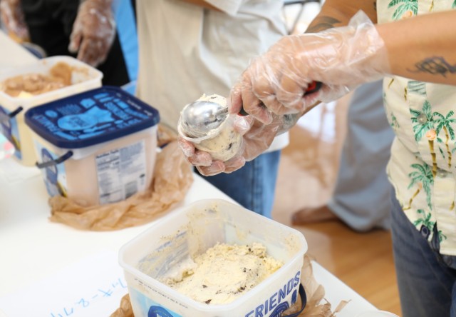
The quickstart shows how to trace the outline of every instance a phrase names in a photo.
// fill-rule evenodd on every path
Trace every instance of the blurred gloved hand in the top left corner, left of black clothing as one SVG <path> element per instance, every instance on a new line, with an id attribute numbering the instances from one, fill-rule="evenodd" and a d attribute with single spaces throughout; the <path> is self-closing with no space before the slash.
<path id="1" fill-rule="evenodd" d="M 0 0 L 0 19 L 8 35 L 15 41 L 28 41 L 29 34 L 20 0 Z"/>

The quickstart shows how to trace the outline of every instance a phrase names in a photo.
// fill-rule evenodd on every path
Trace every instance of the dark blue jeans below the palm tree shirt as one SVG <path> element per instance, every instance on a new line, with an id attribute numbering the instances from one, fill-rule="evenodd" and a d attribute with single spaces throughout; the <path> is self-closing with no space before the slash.
<path id="1" fill-rule="evenodd" d="M 440 255 L 438 235 L 429 243 L 425 238 L 428 232 L 418 231 L 394 192 L 391 197 L 391 233 L 402 317 L 456 317 L 456 257 Z"/>

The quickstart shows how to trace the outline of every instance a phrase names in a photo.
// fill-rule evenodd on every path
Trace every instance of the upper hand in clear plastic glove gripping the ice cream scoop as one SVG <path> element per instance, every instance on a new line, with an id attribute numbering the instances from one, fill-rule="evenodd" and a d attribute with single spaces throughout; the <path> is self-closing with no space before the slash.
<path id="1" fill-rule="evenodd" d="M 273 114 L 304 113 L 316 101 L 340 98 L 390 71 L 387 51 L 375 25 L 359 11 L 348 26 L 316 34 L 284 36 L 252 61 L 230 96 L 229 113 L 242 107 L 264 124 Z M 312 81 L 323 86 L 304 96 Z"/>

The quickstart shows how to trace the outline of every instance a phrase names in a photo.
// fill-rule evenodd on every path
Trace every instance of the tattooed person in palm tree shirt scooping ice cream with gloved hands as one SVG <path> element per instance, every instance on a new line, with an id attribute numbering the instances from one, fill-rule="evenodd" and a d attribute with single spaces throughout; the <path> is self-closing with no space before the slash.
<path id="1" fill-rule="evenodd" d="M 284 36 L 232 89 L 229 113 L 243 107 L 254 123 L 242 130 L 245 151 L 212 161 L 180 140 L 182 151 L 202 173 L 236 170 L 267 146 L 253 136 L 274 135 L 284 114 L 383 79 L 395 132 L 387 173 L 402 316 L 456 316 L 456 2 L 326 0 L 312 23 L 322 31 Z M 321 89 L 304 95 L 312 81 Z"/>

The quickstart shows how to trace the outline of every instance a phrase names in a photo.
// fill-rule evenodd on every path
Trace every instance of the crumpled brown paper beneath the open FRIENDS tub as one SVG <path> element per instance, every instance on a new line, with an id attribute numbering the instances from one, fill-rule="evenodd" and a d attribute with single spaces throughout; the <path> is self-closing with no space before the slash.
<path id="1" fill-rule="evenodd" d="M 314 271 L 312 269 L 311 258 L 304 255 L 304 264 L 301 269 L 301 283 L 306 291 L 307 303 L 304 311 L 299 317 L 334 317 L 335 313 L 341 311 L 348 302 L 342 301 L 338 306 L 331 311 L 331 303 L 326 301 L 325 289 L 321 284 L 318 284 L 314 278 Z M 282 316 L 296 313 L 301 308 L 301 301 L 297 301 L 294 306 L 284 311 Z M 110 315 L 110 317 L 135 317 L 130 303 L 130 296 L 126 294 L 120 300 L 120 307 Z"/>

